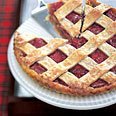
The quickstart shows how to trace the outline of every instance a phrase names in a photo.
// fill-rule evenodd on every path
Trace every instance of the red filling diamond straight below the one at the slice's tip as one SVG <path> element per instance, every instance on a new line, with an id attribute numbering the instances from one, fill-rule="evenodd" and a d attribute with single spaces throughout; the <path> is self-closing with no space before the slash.
<path id="1" fill-rule="evenodd" d="M 77 64 L 73 68 L 69 69 L 69 72 L 73 73 L 76 77 L 81 78 L 83 75 L 88 73 L 88 70 Z"/>

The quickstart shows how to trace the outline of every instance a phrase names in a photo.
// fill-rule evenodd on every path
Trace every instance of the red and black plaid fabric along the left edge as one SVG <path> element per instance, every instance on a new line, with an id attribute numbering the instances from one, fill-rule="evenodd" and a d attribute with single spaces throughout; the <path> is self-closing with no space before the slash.
<path id="1" fill-rule="evenodd" d="M 20 0 L 0 0 L 0 116 L 7 115 L 12 78 L 7 63 L 10 37 L 18 26 Z"/>

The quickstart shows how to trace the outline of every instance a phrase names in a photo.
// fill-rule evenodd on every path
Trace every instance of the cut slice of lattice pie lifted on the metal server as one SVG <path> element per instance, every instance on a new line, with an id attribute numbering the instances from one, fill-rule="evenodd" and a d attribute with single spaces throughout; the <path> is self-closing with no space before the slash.
<path id="1" fill-rule="evenodd" d="M 78 37 L 82 26 L 82 0 L 60 0 L 48 4 L 49 20 L 64 38 Z"/>

